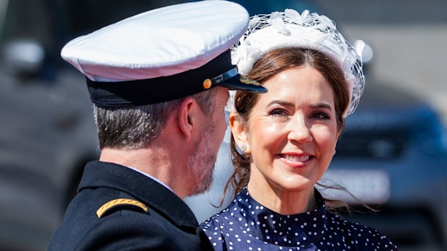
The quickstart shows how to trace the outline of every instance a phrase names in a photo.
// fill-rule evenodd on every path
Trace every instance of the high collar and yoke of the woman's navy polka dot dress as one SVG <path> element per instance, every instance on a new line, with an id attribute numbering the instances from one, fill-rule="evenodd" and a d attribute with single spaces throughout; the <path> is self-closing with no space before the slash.
<path id="1" fill-rule="evenodd" d="M 307 245 L 320 241 L 326 227 L 324 199 L 315 190 L 318 208 L 295 215 L 281 215 L 254 200 L 244 188 L 228 207 L 244 231 L 255 238 L 282 246 Z"/>

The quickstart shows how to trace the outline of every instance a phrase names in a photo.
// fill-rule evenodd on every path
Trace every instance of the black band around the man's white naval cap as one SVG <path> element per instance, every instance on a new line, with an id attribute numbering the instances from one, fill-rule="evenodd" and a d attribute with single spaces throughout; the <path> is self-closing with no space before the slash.
<path id="1" fill-rule="evenodd" d="M 232 68 L 235 66 L 227 50 L 204 66 L 184 73 L 123 82 L 95 82 L 87 78 L 87 86 L 91 101 L 101 107 L 150 105 L 205 91 L 205 79 L 213 79 Z M 223 82 L 209 88 L 220 84 Z"/>

